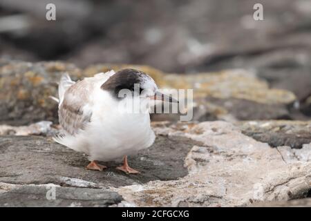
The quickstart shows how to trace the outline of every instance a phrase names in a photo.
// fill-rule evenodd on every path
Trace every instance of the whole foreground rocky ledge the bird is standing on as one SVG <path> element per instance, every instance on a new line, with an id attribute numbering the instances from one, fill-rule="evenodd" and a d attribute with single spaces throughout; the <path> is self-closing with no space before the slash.
<path id="1" fill-rule="evenodd" d="M 50 139 L 56 130 L 50 124 L 2 126 L 0 206 L 310 204 L 301 199 L 310 197 L 310 140 L 292 148 L 256 136 L 270 126 L 283 137 L 289 131 L 299 137 L 309 123 L 154 122 L 155 144 L 129 159 L 139 175 L 116 171 L 120 162 L 106 163 L 104 171 L 86 170 L 85 155 Z"/>

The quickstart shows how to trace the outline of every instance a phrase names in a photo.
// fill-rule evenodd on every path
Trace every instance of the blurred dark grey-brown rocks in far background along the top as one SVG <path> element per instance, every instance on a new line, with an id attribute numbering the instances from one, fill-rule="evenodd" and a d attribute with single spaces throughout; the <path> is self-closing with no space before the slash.
<path id="1" fill-rule="evenodd" d="M 0 56 L 69 59 L 82 66 L 130 62 L 182 73 L 241 67 L 270 70 L 272 77 L 288 70 L 294 79 L 310 73 L 308 0 L 54 1 L 60 10 L 55 23 L 41 19 L 46 1 L 1 1 L 3 18 L 20 12 L 16 23 L 29 26 L 23 35 L 0 35 Z M 252 17 L 255 3 L 263 4 L 263 21 Z"/>

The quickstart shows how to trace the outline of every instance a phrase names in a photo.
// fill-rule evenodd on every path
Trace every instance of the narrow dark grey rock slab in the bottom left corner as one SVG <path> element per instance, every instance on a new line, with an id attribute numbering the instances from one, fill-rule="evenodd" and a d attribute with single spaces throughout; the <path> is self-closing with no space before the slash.
<path id="1" fill-rule="evenodd" d="M 1 187 L 8 184 L 0 183 Z M 9 191 L 0 193 L 0 206 L 62 206 L 62 207 L 98 207 L 111 206 L 122 201 L 122 197 L 103 189 L 61 187 L 53 184 L 46 185 L 10 185 Z M 55 191 L 53 193 L 53 191 Z M 53 195 L 55 194 L 55 195 Z"/>

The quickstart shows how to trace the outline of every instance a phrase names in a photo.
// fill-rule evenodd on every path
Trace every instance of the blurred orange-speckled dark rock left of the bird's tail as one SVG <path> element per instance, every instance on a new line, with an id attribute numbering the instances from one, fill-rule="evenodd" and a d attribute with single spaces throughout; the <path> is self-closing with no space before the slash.
<path id="1" fill-rule="evenodd" d="M 81 70 L 62 62 L 3 61 L 0 66 L 0 122 L 25 125 L 40 120 L 57 122 L 57 82 L 64 72 L 77 80 Z"/>

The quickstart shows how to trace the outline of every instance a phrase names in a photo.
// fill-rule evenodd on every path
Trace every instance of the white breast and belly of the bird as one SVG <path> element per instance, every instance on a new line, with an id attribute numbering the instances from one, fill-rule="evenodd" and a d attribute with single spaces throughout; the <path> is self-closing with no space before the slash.
<path id="1" fill-rule="evenodd" d="M 153 144 L 149 113 L 123 113 L 109 93 L 94 94 L 91 123 L 66 146 L 88 154 L 89 160 L 109 161 L 131 155 Z"/>

